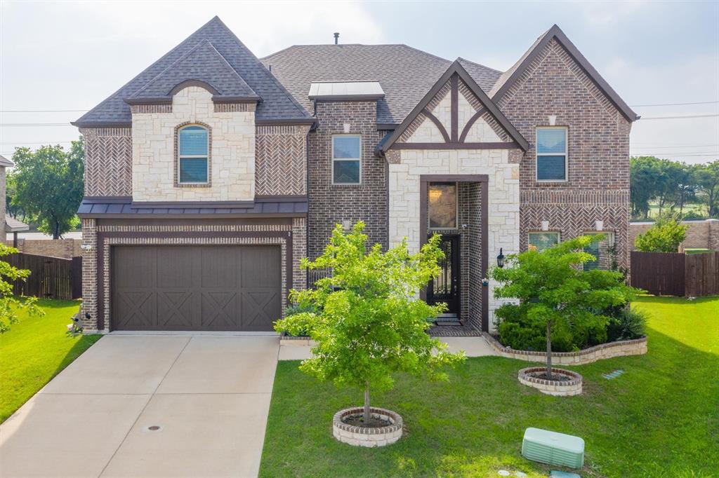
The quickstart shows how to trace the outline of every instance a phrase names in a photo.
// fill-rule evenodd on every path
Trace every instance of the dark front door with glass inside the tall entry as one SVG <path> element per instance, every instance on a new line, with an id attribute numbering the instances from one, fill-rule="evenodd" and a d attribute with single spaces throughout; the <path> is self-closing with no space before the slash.
<path id="1" fill-rule="evenodd" d="M 446 314 L 459 317 L 459 235 L 443 235 L 439 247 L 444 259 L 439 263 L 439 277 L 429 282 L 427 303 L 444 302 Z"/>

